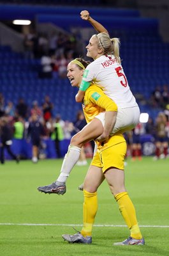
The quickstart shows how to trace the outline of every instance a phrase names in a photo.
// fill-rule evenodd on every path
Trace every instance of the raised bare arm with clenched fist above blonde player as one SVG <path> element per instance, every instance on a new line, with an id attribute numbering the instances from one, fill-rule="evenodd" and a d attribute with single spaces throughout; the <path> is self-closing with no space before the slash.
<path id="1" fill-rule="evenodd" d="M 98 31 L 98 33 L 105 32 L 108 34 L 107 29 L 103 27 L 103 25 L 101 25 L 98 21 L 92 19 L 87 10 L 80 12 L 80 17 L 82 18 L 82 20 L 88 20 L 93 26 L 93 28 L 96 29 L 96 31 Z"/>

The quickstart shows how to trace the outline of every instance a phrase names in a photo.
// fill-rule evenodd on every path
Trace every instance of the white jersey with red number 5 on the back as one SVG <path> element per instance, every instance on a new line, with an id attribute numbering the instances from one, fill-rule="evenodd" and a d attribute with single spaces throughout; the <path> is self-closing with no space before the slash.
<path id="1" fill-rule="evenodd" d="M 138 106 L 131 92 L 121 64 L 114 55 L 100 56 L 85 69 L 83 80 L 93 81 L 119 108 Z"/>

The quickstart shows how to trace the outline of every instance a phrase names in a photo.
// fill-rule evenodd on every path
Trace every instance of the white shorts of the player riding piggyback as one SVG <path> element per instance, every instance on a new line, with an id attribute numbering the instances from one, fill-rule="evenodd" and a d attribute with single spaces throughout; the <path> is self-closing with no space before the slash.
<path id="1" fill-rule="evenodd" d="M 95 116 L 95 118 L 98 118 L 101 121 L 103 127 L 105 126 L 105 112 L 99 113 L 99 115 Z M 118 109 L 114 129 L 110 135 L 113 135 L 119 131 L 122 133 L 131 131 L 138 124 L 139 118 L 140 109 L 138 106 Z"/>

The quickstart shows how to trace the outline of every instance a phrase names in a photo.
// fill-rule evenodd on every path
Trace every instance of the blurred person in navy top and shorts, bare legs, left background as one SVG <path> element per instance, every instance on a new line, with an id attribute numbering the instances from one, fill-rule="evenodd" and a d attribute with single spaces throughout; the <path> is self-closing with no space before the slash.
<path id="1" fill-rule="evenodd" d="M 27 130 L 27 137 L 31 137 L 32 143 L 32 161 L 33 163 L 38 162 L 39 150 L 41 146 L 41 136 L 45 134 L 43 125 L 38 120 L 38 115 L 35 113 L 29 119 L 29 126 Z"/>

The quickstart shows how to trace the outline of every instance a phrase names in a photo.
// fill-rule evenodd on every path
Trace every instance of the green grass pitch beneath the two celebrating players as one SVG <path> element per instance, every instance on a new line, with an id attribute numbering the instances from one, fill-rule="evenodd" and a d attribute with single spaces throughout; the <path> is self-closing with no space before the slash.
<path id="1" fill-rule="evenodd" d="M 112 245 L 126 239 L 129 231 L 106 182 L 98 191 L 99 209 L 92 244 L 63 241 L 62 234 L 75 234 L 72 227 L 77 230 L 82 227 L 83 193 L 77 187 L 87 166 L 75 166 L 64 196 L 38 192 L 38 186 L 55 180 L 61 163 L 61 160 L 41 160 L 37 164 L 6 161 L 0 165 L 2 256 L 169 255 L 169 159 L 152 161 L 152 157 L 144 157 L 135 162 L 128 159 L 126 166 L 126 188 L 136 207 L 145 246 Z"/>

